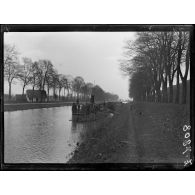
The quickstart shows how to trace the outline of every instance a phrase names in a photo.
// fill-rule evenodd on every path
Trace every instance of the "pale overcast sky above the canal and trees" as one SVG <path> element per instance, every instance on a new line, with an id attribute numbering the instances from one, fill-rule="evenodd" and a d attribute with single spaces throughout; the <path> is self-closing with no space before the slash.
<path id="1" fill-rule="evenodd" d="M 4 40 L 14 44 L 21 57 L 49 59 L 59 73 L 95 81 L 105 91 L 126 99 L 128 78 L 122 76 L 118 59 L 125 40 L 134 36 L 133 32 L 9 32 Z M 12 93 L 22 93 L 22 86 L 14 84 Z"/>

